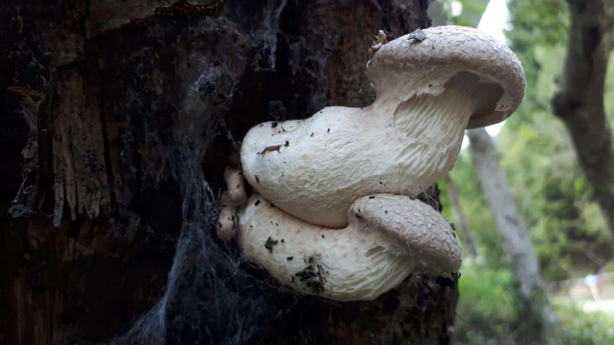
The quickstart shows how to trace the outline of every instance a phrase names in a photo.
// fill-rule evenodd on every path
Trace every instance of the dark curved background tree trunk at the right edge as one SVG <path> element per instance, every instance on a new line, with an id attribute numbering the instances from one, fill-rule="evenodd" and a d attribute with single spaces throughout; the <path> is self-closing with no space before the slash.
<path id="1" fill-rule="evenodd" d="M 604 109 L 605 72 L 614 47 L 614 8 L 606 6 L 609 0 L 568 2 L 567 56 L 552 106 L 570 133 L 578 161 L 614 234 L 614 140 Z"/>

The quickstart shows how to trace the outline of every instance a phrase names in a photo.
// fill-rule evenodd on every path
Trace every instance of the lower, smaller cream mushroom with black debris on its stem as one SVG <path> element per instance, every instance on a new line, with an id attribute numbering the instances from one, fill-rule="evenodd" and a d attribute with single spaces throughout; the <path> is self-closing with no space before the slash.
<path id="1" fill-rule="evenodd" d="M 297 219 L 257 193 L 239 214 L 238 242 L 246 257 L 308 295 L 373 300 L 414 269 L 449 275 L 461 266 L 461 245 L 450 225 L 407 196 L 359 198 L 343 229 Z"/>

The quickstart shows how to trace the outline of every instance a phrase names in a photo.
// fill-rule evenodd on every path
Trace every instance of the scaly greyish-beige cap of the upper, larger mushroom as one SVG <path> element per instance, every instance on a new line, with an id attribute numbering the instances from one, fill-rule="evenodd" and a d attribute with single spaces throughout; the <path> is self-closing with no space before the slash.
<path id="1" fill-rule="evenodd" d="M 426 36 L 420 37 L 422 41 L 407 34 L 383 45 L 367 63 L 367 76 L 378 97 L 391 87 L 400 101 L 440 95 L 451 77 L 470 72 L 480 77 L 478 93 L 483 97 L 467 128 L 501 122 L 521 104 L 524 69 L 510 48 L 465 26 L 435 26 L 422 33 Z"/>

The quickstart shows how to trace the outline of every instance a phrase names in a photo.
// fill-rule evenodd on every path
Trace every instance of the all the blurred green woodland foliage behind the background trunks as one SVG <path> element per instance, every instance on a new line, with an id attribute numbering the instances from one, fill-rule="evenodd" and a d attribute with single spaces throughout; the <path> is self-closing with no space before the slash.
<path id="1" fill-rule="evenodd" d="M 475 26 L 472 18 L 481 16 L 487 2 L 442 0 L 436 6 L 447 21 Z M 603 4 L 606 9 L 614 6 Z M 583 311 L 586 300 L 576 298 L 571 288 L 582 285 L 581 279 L 588 274 L 614 271 L 614 263 L 612 236 L 595 188 L 578 164 L 570 136 L 551 106 L 567 53 L 569 7 L 565 0 L 509 0 L 507 6 L 510 14 L 505 36 L 523 62 L 527 89 L 521 108 L 492 139 L 561 319 L 564 343 L 614 344 L 612 314 Z M 604 107 L 612 123 L 614 69 L 612 63 L 609 66 Z M 510 259 L 501 255 L 502 243 L 467 149 L 461 152 L 450 179 L 478 252 L 463 263 L 455 342 L 540 343 L 528 331 L 532 326 L 527 322 L 525 302 Z M 440 187 L 444 214 L 460 222 L 462 217 L 448 199 L 446 181 L 441 181 Z"/>

